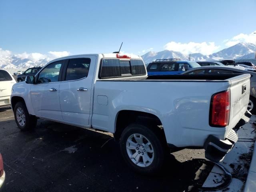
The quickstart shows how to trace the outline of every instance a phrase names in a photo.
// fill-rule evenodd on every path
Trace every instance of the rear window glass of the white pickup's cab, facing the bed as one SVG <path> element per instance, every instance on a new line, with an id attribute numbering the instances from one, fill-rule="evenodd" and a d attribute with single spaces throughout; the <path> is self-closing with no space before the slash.
<path id="1" fill-rule="evenodd" d="M 103 59 L 100 78 L 146 75 L 144 63 L 139 59 Z"/>

